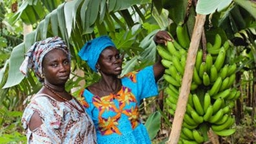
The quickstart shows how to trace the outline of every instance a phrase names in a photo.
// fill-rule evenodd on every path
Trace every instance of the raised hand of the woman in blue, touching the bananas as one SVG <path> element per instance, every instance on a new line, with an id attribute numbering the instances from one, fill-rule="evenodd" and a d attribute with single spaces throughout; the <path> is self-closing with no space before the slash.
<path id="1" fill-rule="evenodd" d="M 172 41 L 171 36 L 165 30 L 157 32 L 153 39 L 156 44 L 163 44 L 165 46 L 167 45 L 167 41 Z"/>

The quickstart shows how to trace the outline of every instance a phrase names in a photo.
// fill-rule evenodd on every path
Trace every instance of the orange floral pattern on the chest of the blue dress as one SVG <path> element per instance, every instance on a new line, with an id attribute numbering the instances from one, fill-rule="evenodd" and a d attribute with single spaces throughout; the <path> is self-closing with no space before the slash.
<path id="1" fill-rule="evenodd" d="M 133 93 L 131 93 L 131 90 L 127 87 L 122 87 L 117 94 L 110 94 L 109 96 L 103 96 L 101 98 L 99 96 L 94 96 L 92 98 L 92 103 L 100 111 L 98 121 L 101 134 L 121 134 L 117 127 L 121 114 L 128 116 L 133 129 L 136 128 L 140 122 L 138 107 L 124 109 L 126 105 L 130 105 L 132 102 L 136 103 L 137 101 Z M 103 118 L 102 114 L 109 110 L 116 112 L 116 115 Z"/>

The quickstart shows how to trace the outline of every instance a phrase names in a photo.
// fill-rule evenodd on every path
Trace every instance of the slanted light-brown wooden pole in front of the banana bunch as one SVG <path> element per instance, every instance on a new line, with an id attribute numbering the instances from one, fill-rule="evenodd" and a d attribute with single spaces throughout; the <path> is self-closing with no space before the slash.
<path id="1" fill-rule="evenodd" d="M 180 131 L 181 131 L 182 122 L 184 119 L 184 114 L 186 112 L 187 99 L 190 93 L 190 87 L 191 87 L 191 81 L 193 77 L 193 69 L 195 67 L 197 50 L 200 44 L 202 30 L 204 30 L 205 21 L 206 21 L 206 15 L 197 14 L 196 20 L 195 20 L 195 27 L 193 29 L 193 34 L 191 37 L 191 43 L 189 45 L 189 49 L 187 52 L 187 61 L 186 61 L 184 76 L 182 79 L 180 95 L 178 97 L 177 107 L 175 110 L 175 117 L 173 119 L 173 127 L 166 144 L 176 144 L 178 143 L 178 139 L 180 138 Z"/>

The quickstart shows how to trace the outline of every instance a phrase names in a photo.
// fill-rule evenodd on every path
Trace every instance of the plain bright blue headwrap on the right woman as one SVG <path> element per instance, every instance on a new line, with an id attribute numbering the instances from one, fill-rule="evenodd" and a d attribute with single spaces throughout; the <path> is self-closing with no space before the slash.
<path id="1" fill-rule="evenodd" d="M 89 67 L 94 71 L 96 70 L 96 63 L 100 57 L 101 52 L 107 48 L 107 46 L 113 46 L 116 48 L 112 40 L 108 36 L 100 36 L 91 41 L 88 41 L 83 45 L 78 56 L 81 57 L 84 61 L 87 61 Z"/>

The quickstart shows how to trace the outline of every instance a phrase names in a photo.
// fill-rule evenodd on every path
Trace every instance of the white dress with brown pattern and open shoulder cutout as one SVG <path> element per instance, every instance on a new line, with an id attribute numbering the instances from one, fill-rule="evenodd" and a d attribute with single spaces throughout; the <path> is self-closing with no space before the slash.
<path id="1" fill-rule="evenodd" d="M 69 101 L 81 107 L 73 98 Z M 94 124 L 86 112 L 80 112 L 67 102 L 56 101 L 46 94 L 37 94 L 25 108 L 21 122 L 27 133 L 27 143 L 96 143 Z M 30 118 L 38 112 L 42 125 L 30 130 Z"/>

